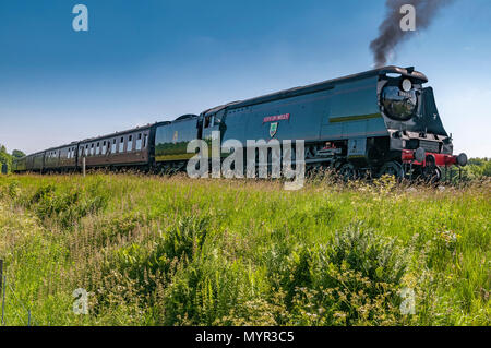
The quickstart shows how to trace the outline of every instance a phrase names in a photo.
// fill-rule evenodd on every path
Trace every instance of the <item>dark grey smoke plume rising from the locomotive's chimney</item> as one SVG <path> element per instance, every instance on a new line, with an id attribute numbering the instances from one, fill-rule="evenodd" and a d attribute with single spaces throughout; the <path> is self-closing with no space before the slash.
<path id="1" fill-rule="evenodd" d="M 387 62 L 387 56 L 396 46 L 409 39 L 411 34 L 428 28 L 435 19 L 439 10 L 451 4 L 454 0 L 387 0 L 385 20 L 379 26 L 379 37 L 370 43 L 375 67 L 380 68 Z M 416 32 L 400 29 L 400 7 L 412 4 L 416 9 Z"/>

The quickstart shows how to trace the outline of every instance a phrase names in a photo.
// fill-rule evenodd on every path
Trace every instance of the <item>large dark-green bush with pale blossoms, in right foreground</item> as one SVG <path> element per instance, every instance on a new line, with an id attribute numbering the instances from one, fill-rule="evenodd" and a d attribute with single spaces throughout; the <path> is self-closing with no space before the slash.
<path id="1" fill-rule="evenodd" d="M 336 233 L 328 247 L 303 247 L 283 275 L 292 324 L 394 324 L 405 260 L 395 239 L 362 225 Z"/>

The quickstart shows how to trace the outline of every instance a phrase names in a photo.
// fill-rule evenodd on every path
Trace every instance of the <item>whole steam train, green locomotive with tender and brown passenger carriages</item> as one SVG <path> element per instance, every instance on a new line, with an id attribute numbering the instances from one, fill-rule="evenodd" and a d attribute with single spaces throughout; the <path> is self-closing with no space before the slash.
<path id="1" fill-rule="evenodd" d="M 77 171 L 83 161 L 87 169 L 182 170 L 195 155 L 188 144 L 219 132 L 221 143 L 303 140 L 307 168 L 331 167 L 348 180 L 439 180 L 467 156 L 453 155 L 427 82 L 414 68 L 385 67 L 49 148 L 15 160 L 13 170 Z"/>

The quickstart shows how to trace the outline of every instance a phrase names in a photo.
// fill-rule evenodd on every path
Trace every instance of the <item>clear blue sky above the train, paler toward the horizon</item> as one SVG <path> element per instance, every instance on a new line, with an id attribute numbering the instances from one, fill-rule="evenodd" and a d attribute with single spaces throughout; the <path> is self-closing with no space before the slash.
<path id="1" fill-rule="evenodd" d="M 0 143 L 32 153 L 369 70 L 384 4 L 0 0 Z M 429 76 L 470 156 L 491 156 L 490 17 L 491 1 L 457 0 L 390 61 Z"/>

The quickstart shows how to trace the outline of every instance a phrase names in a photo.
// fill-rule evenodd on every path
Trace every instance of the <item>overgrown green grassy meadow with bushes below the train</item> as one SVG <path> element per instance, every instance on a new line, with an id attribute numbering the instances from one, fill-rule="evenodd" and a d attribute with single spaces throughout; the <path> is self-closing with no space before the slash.
<path id="1" fill-rule="evenodd" d="M 5 324 L 489 325 L 490 189 L 0 177 Z"/>

